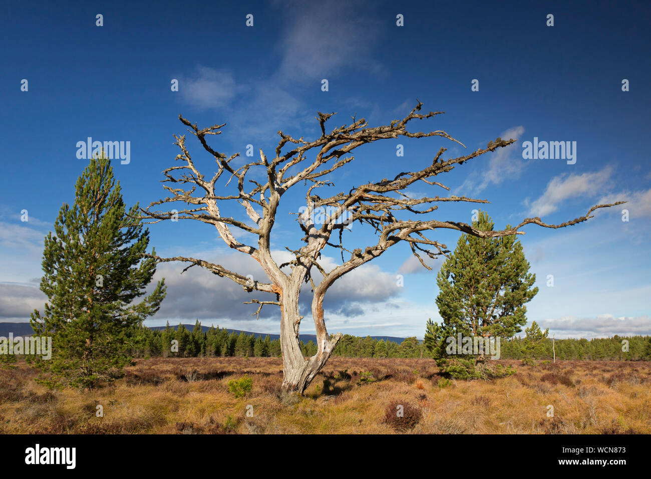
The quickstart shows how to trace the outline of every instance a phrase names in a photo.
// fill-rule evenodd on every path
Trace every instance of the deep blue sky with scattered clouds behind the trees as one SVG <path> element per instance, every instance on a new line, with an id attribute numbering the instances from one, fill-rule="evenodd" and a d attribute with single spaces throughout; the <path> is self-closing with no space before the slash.
<path id="1" fill-rule="evenodd" d="M 437 138 L 362 147 L 350 168 L 333 176 L 333 193 L 421 169 L 441 146 L 449 148 L 448 158 L 498 136 L 518 139 L 437 181 L 453 194 L 489 199 L 484 207 L 498 227 L 527 216 L 557 224 L 596 203 L 629 201 L 566 229 L 523 229 L 519 239 L 540 288 L 529 319 L 557 338 L 651 334 L 650 11 L 644 3 L 598 2 L 9 2 L 0 19 L 0 321 L 26 321 L 42 308 L 43 238 L 61 204 L 73 201 L 87 164 L 76 156 L 77 141 L 130 141 L 130 162 L 113 162 L 115 175 L 127 203 L 146 205 L 167 196 L 159 181 L 178 153 L 173 134 L 186 132 L 179 113 L 199 126 L 227 123 L 212 144 L 246 158 L 249 144 L 271 156 L 279 129 L 317 138 L 316 111 L 337 112 L 331 128 L 352 115 L 378 126 L 407 115 L 418 98 L 426 111 L 445 115 L 412 130 L 443 129 L 467 148 Z M 101 27 L 96 14 L 103 15 Z M 253 27 L 245 25 L 247 14 Z M 178 91 L 171 91 L 173 79 Z M 471 91 L 475 79 L 479 89 Z M 622 91 L 624 79 L 630 91 Z M 534 137 L 575 141 L 575 164 L 523 159 L 522 144 Z M 187 146 L 202 172 L 212 174 L 214 161 L 193 139 Z M 403 157 L 396 156 L 398 143 Z M 422 184 L 410 192 L 443 192 L 435 189 Z M 298 246 L 290 212 L 304 195 L 284 197 L 273 234 L 279 259 L 284 246 Z M 475 207 L 441 205 L 432 218 L 470 222 Z M 225 248 L 210 225 L 194 223 L 151 225 L 151 245 L 161 255 L 194 255 L 260 274 L 247 257 Z M 353 226 L 349 249 L 370 244 L 362 230 Z M 458 233 L 436 238 L 452 249 Z M 327 264 L 337 264 L 335 250 L 325 255 Z M 424 270 L 400 245 L 355 270 L 327 295 L 329 332 L 422 338 L 426 320 L 439 319 L 440 263 Z M 263 309 L 256 320 L 256 306 L 241 304 L 247 300 L 241 287 L 197 269 L 180 276 L 181 269 L 159 267 L 168 297 L 149 324 L 199 318 L 278 331 L 277 312 Z M 309 313 L 301 326 L 313 331 Z"/>

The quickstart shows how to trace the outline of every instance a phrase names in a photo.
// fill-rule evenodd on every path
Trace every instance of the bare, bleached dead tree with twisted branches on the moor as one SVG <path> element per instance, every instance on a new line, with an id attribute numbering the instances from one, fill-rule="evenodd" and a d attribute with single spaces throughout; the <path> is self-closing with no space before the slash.
<path id="1" fill-rule="evenodd" d="M 321 129 L 319 138 L 306 140 L 301 137 L 297 139 L 279 131 L 280 141 L 275 147 L 273 158 L 268 158 L 260 149 L 260 160 L 249 162 L 238 168 L 232 166 L 231 163 L 234 158 L 239 156 L 239 153 L 227 156 L 215 150 L 208 143 L 210 136 L 221 134 L 221 128 L 225 126 L 225 123 L 199 128 L 196 123 L 192 124 L 179 115 L 180 121 L 189 127 L 188 131 L 196 136 L 202 147 L 215 158 L 217 171 L 210 178 L 204 177 L 195 166 L 195 161 L 187 149 L 185 135 L 174 136 L 176 138 L 174 144 L 178 145 L 181 150 L 181 153 L 175 158 L 180 164 L 165 169 L 163 174 L 166 179 L 162 181 L 167 183 L 164 184 L 164 188 L 171 196 L 154 201 L 146 209 L 143 209 L 143 218 L 152 220 L 150 223 L 178 218 L 179 220 L 198 220 L 214 225 L 230 248 L 251 255 L 260 263 L 268 276 L 268 282 L 251 281 L 243 274 L 202 259 L 182 256 L 169 258 L 156 256 L 156 259 L 158 261 L 190 263 L 184 271 L 199 265 L 217 276 L 229 278 L 242 285 L 246 291 L 262 291 L 275 295 L 275 300 L 253 299 L 248 303 L 259 304 L 256 312 L 258 317 L 262 306 L 266 304 L 280 306 L 284 392 L 302 393 L 316 373 L 326 364 L 337 342 L 342 337 L 339 332 L 332 337 L 327 333 L 324 319 L 324 297 L 328 288 L 344 274 L 381 256 L 391 246 L 405 242 L 422 265 L 431 269 L 423 261 L 421 255 L 435 258 L 437 255 L 448 252 L 445 244 L 427 236 L 427 233 L 438 228 L 456 229 L 481 238 L 501 237 L 524 234 L 518 230 L 523 225 L 530 223 L 547 228 L 574 225 L 591 218 L 590 214 L 598 208 L 613 206 L 596 205 L 590 208 L 585 216 L 558 225 L 546 224 L 540 218 L 527 218 L 516 227 L 501 231 L 482 231 L 462 222 L 432 219 L 430 213 L 437 209 L 436 203 L 439 202 L 488 203 L 485 199 L 473 199 L 465 196 L 428 196 L 414 199 L 404 193 L 406 188 L 418 182 L 449 190 L 447 186 L 434 181 L 434 178 L 452 170 L 457 164 L 463 164 L 497 148 L 506 147 L 515 141 L 501 138 L 491 141 L 484 149 L 478 149 L 464 156 L 448 160 L 443 159 L 446 149 L 441 148 L 431 164 L 419 171 L 403 171 L 391 179 L 361 184 L 357 188 L 344 190 L 335 196 L 322 198 L 314 193 L 316 188 L 326 185 L 333 186 L 333 183 L 328 181 L 329 174 L 350 164 L 353 161 L 353 156 L 350 153 L 367 143 L 400 136 L 406 138 L 437 136 L 464 146 L 443 130 L 428 133 L 409 132 L 407 129 L 409 122 L 429 119 L 443 113 L 442 111 L 419 113 L 421 106 L 422 103 L 418 102 L 409 115 L 401 120 L 394 120 L 387 126 L 370 128 L 365 119 L 357 120 L 353 117 L 352 123 L 339 126 L 331 132 L 326 132 L 326 122 L 335 113 L 319 112 L 316 118 Z M 311 159 L 308 159 L 308 156 Z M 253 169 L 259 169 L 264 180 L 258 182 L 249 179 L 250 176 L 247 178 L 247 173 Z M 228 180 L 225 185 L 218 187 L 217 181 L 223 175 L 225 179 L 228 177 Z M 236 183 L 236 188 L 232 185 L 232 194 L 226 194 L 224 191 L 230 182 Z M 177 184 L 180 187 L 175 188 L 172 184 Z M 188 188 L 188 185 L 191 187 Z M 305 244 L 298 250 L 287 248 L 292 252 L 294 259 L 289 263 L 277 264 L 271 257 L 271 230 L 275 224 L 283 195 L 290 188 L 296 186 L 304 186 L 307 190 L 305 207 L 297 212 L 298 225 L 304 234 L 302 242 Z M 240 203 L 250 221 L 222 216 L 220 208 L 228 201 Z M 152 210 L 157 205 L 176 202 L 185 203 L 186 207 L 178 210 Z M 322 222 L 315 222 L 315 212 L 324 210 L 326 214 L 322 215 Z M 346 249 L 343 246 L 342 233 L 352 224 L 370 227 L 378 237 L 376 244 L 364 248 Z M 244 244 L 232 233 L 234 229 L 254 235 L 257 244 Z M 329 271 L 320 264 L 321 252 L 326 246 L 340 250 L 342 258 L 342 263 Z M 344 254 L 350 255 L 350 257 L 346 260 Z M 316 271 L 318 274 L 315 275 Z M 313 276 L 316 276 L 317 280 L 320 276 L 320 281 L 314 282 Z M 311 309 L 318 349 L 314 356 L 305 358 L 299 345 L 299 325 L 303 319 L 299 314 L 299 293 L 301 285 L 308 282 L 312 285 Z"/>

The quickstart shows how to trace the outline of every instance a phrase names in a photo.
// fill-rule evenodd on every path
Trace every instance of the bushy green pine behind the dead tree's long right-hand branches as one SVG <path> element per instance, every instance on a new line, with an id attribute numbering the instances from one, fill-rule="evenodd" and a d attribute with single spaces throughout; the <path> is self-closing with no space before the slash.
<path id="1" fill-rule="evenodd" d="M 492 231 L 494 223 L 480 211 L 473 227 Z M 507 225 L 507 228 L 510 227 Z M 424 342 L 437 362 L 454 358 L 469 373 L 484 355 L 449 356 L 447 338 L 479 336 L 511 338 L 527 322 L 525 303 L 538 293 L 536 276 L 529 273 L 522 245 L 516 236 L 477 238 L 462 235 L 456 249 L 437 275 L 439 295 L 436 304 L 443 321 L 428 321 Z"/>

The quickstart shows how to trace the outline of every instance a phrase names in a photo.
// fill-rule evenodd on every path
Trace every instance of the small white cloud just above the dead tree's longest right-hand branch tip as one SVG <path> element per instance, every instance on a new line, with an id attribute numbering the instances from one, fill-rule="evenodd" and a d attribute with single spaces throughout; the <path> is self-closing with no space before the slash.
<path id="1" fill-rule="evenodd" d="M 594 173 L 559 175 L 547 183 L 545 192 L 531 203 L 529 214 L 544 216 L 559 209 L 559 204 L 566 199 L 577 196 L 594 197 L 603 191 L 611 179 L 613 169 L 610 166 Z"/>

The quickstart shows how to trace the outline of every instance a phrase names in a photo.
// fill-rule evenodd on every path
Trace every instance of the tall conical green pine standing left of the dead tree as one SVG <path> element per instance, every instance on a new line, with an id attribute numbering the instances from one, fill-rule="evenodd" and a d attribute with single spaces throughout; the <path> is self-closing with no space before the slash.
<path id="1" fill-rule="evenodd" d="M 143 259 L 149 235 L 138 212 L 137 204 L 126 210 L 104 154 L 77 180 L 74 205 L 59 210 L 42 262 L 48 302 L 31 316 L 35 334 L 52 337 L 51 360 L 36 361 L 49 385 L 92 387 L 118 376 L 130 362 L 129 331 L 158 311 L 164 280 L 135 302 L 156 272 L 154 259 Z"/>

